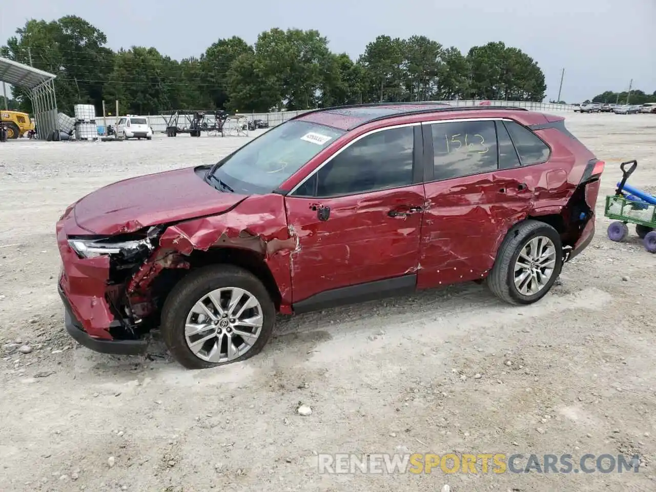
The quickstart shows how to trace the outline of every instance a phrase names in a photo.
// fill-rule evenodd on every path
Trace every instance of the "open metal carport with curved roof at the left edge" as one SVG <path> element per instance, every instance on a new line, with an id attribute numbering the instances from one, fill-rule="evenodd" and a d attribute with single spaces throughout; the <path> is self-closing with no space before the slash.
<path id="1" fill-rule="evenodd" d="M 37 132 L 41 140 L 46 140 L 54 130 L 58 129 L 57 98 L 54 95 L 55 78 L 56 75 L 52 73 L 0 56 L 0 82 L 29 91 Z"/>

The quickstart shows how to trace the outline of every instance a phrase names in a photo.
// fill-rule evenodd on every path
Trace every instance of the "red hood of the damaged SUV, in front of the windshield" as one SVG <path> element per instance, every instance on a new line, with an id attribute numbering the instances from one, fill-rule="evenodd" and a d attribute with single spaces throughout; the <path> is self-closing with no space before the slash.
<path id="1" fill-rule="evenodd" d="M 220 192 L 205 170 L 177 169 L 119 181 L 83 197 L 73 213 L 80 228 L 111 236 L 147 226 L 228 211 L 247 195 Z"/>

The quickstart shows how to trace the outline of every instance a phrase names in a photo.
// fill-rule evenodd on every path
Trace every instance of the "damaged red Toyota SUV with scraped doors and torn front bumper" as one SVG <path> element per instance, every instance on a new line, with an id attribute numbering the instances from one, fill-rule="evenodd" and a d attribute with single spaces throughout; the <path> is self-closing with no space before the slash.
<path id="1" fill-rule="evenodd" d="M 603 169 L 563 117 L 519 108 L 304 113 L 215 165 L 68 207 L 66 329 L 139 354 L 159 327 L 177 361 L 202 368 L 260 352 L 276 313 L 464 281 L 530 304 L 590 243 Z"/>

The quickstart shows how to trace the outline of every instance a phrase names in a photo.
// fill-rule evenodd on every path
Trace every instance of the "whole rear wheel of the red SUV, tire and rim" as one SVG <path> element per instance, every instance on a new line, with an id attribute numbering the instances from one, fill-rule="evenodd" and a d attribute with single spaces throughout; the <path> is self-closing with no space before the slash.
<path id="1" fill-rule="evenodd" d="M 487 285 L 509 304 L 532 304 L 550 291 L 562 266 L 558 231 L 544 222 L 525 220 L 501 243 Z"/>

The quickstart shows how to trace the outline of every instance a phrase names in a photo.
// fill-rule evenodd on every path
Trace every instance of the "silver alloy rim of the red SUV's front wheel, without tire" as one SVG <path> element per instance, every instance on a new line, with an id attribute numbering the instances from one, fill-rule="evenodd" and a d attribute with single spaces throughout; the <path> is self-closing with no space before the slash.
<path id="1" fill-rule="evenodd" d="M 194 304 L 186 318 L 184 337 L 199 359 L 233 361 L 255 344 L 263 321 L 262 306 L 249 291 L 216 289 Z"/>

